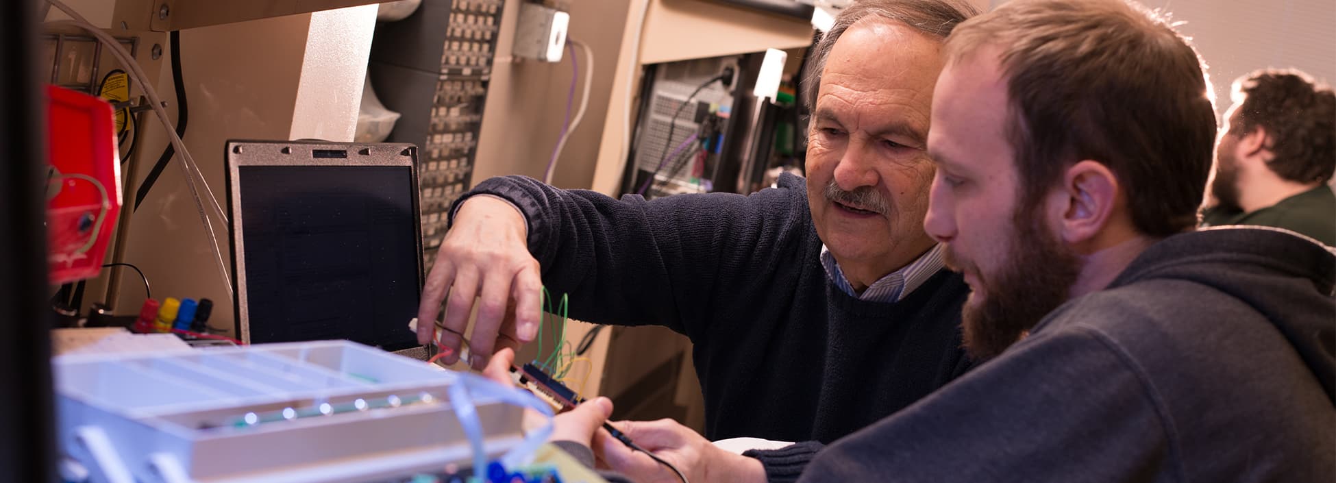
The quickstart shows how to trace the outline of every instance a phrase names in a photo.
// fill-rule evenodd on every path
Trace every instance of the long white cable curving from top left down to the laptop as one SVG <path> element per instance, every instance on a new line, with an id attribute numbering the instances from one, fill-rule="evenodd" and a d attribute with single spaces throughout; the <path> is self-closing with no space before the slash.
<path id="1" fill-rule="evenodd" d="M 139 81 L 140 89 L 143 89 L 144 96 L 148 97 L 148 104 L 152 107 L 154 113 L 158 116 L 158 120 L 167 129 L 167 137 L 168 140 L 171 140 L 172 145 L 176 148 L 176 152 L 180 156 L 182 160 L 180 167 L 182 171 L 186 173 L 186 184 L 190 187 L 191 197 L 195 200 L 195 211 L 199 213 L 199 219 L 204 223 L 204 228 L 208 231 L 208 242 L 214 247 L 214 259 L 215 262 L 218 262 L 218 272 L 223 276 L 228 298 L 234 296 L 231 275 L 227 274 L 227 264 L 223 262 L 223 251 L 222 248 L 218 247 L 218 236 L 214 232 L 214 223 L 208 219 L 208 213 L 204 211 L 203 200 L 199 196 L 199 188 L 195 185 L 195 172 L 199 172 L 199 167 L 195 165 L 195 159 L 191 157 L 190 151 L 186 149 L 186 143 L 180 140 L 180 136 L 176 135 L 176 129 L 175 127 L 172 127 L 171 120 L 167 119 L 167 111 L 163 109 L 162 97 L 158 96 L 158 91 L 154 89 L 152 84 L 147 81 L 148 76 L 143 72 L 143 69 L 130 55 L 130 52 L 126 52 L 124 47 L 122 47 L 119 41 L 116 41 L 116 39 L 114 39 L 103 29 L 88 23 L 88 20 L 80 16 L 79 12 L 75 12 L 72 8 L 69 8 L 60 0 L 47 0 L 47 1 L 59 8 L 61 12 L 65 12 L 65 15 L 68 15 L 69 17 L 75 19 L 75 20 L 56 20 L 48 24 L 69 25 L 88 31 L 88 33 L 92 33 L 95 37 L 98 37 L 98 40 L 100 40 L 104 45 L 107 45 L 107 49 L 114 56 L 116 56 L 116 59 L 120 60 L 122 65 L 124 65 L 128 69 L 131 76 L 134 76 L 135 80 Z M 208 189 L 208 183 L 203 181 L 202 172 L 200 172 L 200 181 L 204 184 L 204 189 Z M 208 189 L 208 196 L 212 200 L 214 208 L 218 211 L 218 216 L 226 221 L 227 215 L 222 212 L 222 207 L 218 204 L 218 199 L 214 197 L 211 189 Z"/>

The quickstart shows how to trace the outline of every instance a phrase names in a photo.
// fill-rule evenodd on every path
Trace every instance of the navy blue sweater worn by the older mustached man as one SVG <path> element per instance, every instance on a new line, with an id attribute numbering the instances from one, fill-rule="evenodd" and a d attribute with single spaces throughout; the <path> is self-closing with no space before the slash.
<path id="1" fill-rule="evenodd" d="M 844 294 L 822 268 L 800 177 L 751 196 L 645 201 L 506 176 L 461 201 L 477 193 L 524 212 L 542 282 L 570 295 L 572 318 L 692 340 L 707 438 L 831 442 L 970 367 L 961 276 L 943 270 L 898 303 Z M 783 456 L 799 463 L 791 475 L 819 444 L 800 447 Z"/>

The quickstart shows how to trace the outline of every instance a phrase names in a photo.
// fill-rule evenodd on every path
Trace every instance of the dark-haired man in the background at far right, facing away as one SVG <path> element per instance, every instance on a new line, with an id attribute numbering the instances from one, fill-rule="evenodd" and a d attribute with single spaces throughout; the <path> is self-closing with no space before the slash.
<path id="1" fill-rule="evenodd" d="M 1257 71 L 1234 80 L 1205 225 L 1291 229 L 1336 246 L 1336 93 L 1304 72 Z"/>

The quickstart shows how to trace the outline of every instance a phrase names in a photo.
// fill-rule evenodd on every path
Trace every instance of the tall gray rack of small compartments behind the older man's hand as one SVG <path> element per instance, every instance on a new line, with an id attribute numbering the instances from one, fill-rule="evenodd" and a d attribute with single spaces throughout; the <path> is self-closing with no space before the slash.
<path id="1" fill-rule="evenodd" d="M 473 177 L 504 7 L 502 0 L 424 1 L 407 19 L 375 28 L 367 75 L 385 107 L 402 115 L 389 140 L 422 147 L 428 267 L 445 237 L 450 204 Z"/>

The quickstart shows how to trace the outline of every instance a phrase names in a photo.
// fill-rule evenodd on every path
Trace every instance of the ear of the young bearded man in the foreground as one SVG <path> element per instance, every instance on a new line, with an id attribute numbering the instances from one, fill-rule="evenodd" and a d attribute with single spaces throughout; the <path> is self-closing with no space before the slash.
<path id="1" fill-rule="evenodd" d="M 1108 228 L 1118 204 L 1118 177 L 1104 163 L 1083 160 L 1062 176 L 1065 209 L 1058 224 L 1062 240 L 1079 246 Z"/>

